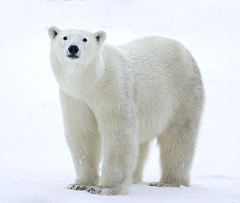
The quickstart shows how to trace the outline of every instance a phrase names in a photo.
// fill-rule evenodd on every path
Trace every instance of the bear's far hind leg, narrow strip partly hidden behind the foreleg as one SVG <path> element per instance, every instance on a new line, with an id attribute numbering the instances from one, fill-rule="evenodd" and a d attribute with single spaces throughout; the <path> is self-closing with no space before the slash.
<path id="1" fill-rule="evenodd" d="M 149 154 L 150 141 L 142 143 L 138 148 L 138 161 L 136 168 L 133 172 L 132 181 L 133 183 L 138 183 L 142 181 L 143 168 Z"/>

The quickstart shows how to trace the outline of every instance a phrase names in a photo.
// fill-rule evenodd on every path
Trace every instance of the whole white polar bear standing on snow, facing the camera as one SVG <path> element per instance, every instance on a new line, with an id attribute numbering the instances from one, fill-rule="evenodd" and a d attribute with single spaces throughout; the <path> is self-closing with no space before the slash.
<path id="1" fill-rule="evenodd" d="M 158 36 L 112 46 L 104 43 L 104 31 L 50 27 L 48 33 L 76 171 L 68 188 L 126 194 L 131 183 L 142 180 L 155 138 L 162 177 L 150 185 L 188 186 L 204 103 L 190 52 Z"/>

